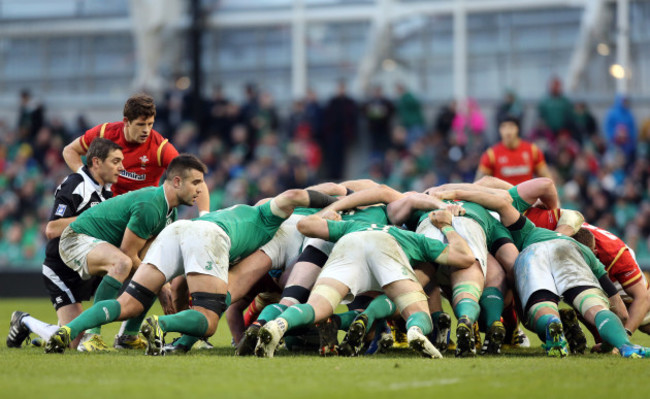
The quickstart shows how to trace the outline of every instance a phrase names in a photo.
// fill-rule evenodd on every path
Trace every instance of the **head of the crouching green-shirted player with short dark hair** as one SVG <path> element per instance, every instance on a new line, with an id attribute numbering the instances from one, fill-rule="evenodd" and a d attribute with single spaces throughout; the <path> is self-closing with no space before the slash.
<path id="1" fill-rule="evenodd" d="M 179 203 L 192 205 L 201 193 L 203 175 L 208 168 L 191 154 L 180 154 L 167 167 L 165 183 L 170 184 Z"/>

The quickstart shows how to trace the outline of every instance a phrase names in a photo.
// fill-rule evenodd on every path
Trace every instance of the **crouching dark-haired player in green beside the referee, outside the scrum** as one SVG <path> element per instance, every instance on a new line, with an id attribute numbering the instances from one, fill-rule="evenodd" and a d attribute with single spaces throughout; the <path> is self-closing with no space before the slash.
<path id="1" fill-rule="evenodd" d="M 111 198 L 65 228 L 59 243 L 63 262 L 84 280 L 104 276 L 95 292 L 95 303 L 117 297 L 124 280 L 140 265 L 147 241 L 176 220 L 179 205 L 194 203 L 205 172 L 198 158 L 181 154 L 170 162 L 162 187 Z M 135 331 L 124 334 L 137 337 L 141 321 L 134 319 L 131 325 Z M 99 334 L 93 334 L 89 341 L 98 349 L 107 348 Z"/>

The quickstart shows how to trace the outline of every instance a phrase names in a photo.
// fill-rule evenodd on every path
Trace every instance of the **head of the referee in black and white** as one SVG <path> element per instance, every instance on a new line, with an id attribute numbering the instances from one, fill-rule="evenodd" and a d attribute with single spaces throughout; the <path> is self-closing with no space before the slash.
<path id="1" fill-rule="evenodd" d="M 100 184 L 117 183 L 120 172 L 124 170 L 123 160 L 122 147 L 104 138 L 93 140 L 86 153 L 88 170 Z"/>

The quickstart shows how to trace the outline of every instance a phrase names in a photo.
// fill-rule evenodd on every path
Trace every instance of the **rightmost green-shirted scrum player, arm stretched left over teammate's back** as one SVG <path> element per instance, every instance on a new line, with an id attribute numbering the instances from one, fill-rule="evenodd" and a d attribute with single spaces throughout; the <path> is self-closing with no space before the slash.
<path id="1" fill-rule="evenodd" d="M 535 227 L 502 195 L 478 190 L 450 190 L 437 195 L 473 201 L 499 213 L 521 251 L 515 263 L 515 282 L 527 325 L 546 342 L 548 356 L 569 354 L 557 307 L 562 296 L 622 356 L 650 357 L 650 349 L 629 341 L 620 319 L 627 317 L 625 305 L 605 267 L 589 248 L 571 237 Z"/>

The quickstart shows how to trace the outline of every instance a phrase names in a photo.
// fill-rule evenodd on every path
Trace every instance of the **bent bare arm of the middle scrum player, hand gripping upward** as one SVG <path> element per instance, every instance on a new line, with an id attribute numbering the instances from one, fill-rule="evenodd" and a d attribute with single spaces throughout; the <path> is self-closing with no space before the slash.
<path id="1" fill-rule="evenodd" d="M 466 269 L 474 263 L 474 255 L 467 242 L 451 226 L 452 215 L 448 210 L 439 210 L 429 213 L 431 224 L 436 226 L 449 241 L 449 246 L 436 258 L 436 262 Z"/>

